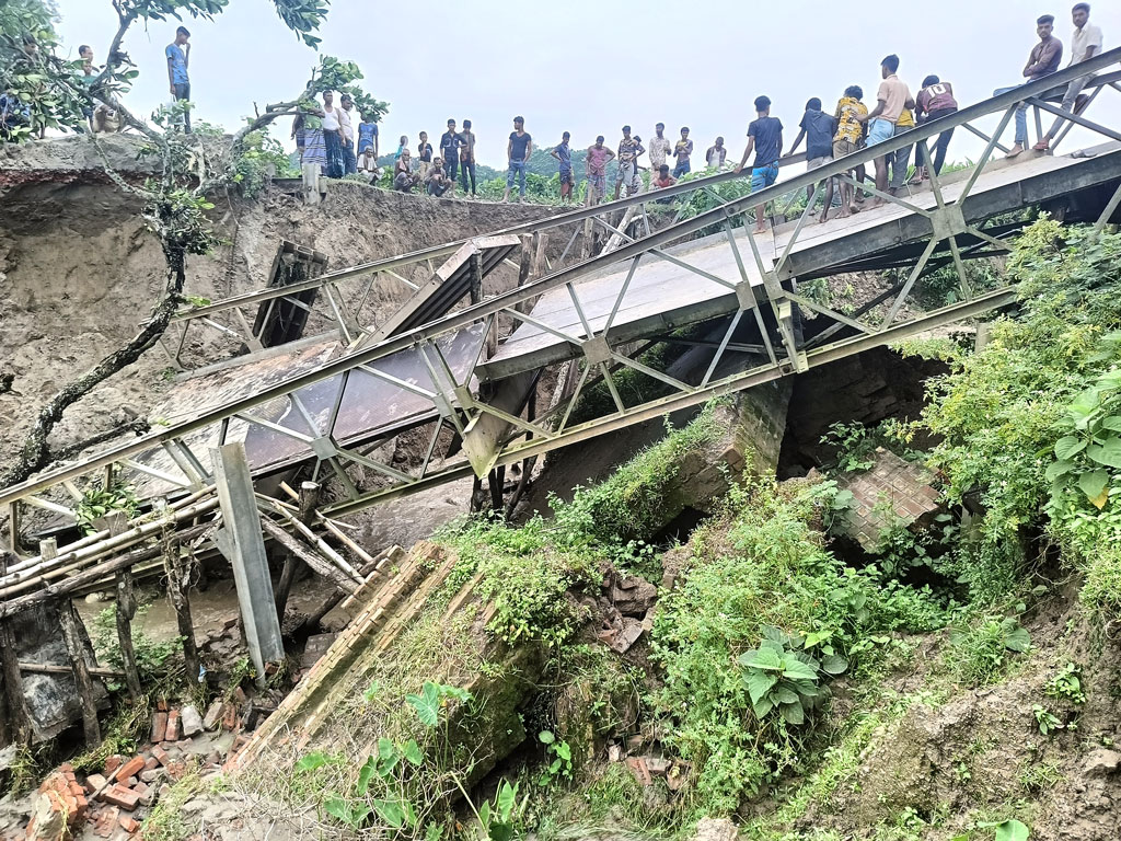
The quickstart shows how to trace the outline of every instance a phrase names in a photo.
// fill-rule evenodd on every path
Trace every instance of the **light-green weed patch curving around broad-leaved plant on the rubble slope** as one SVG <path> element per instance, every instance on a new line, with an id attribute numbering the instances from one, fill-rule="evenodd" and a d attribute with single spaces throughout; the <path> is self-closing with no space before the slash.
<path id="1" fill-rule="evenodd" d="M 805 758 L 803 726 L 756 709 L 736 664 L 758 650 L 767 626 L 851 658 L 859 680 L 890 631 L 945 622 L 928 591 L 886 581 L 874 567 L 846 569 L 824 548 L 812 523 L 831 492 L 733 488 L 723 514 L 694 533 L 684 583 L 661 599 L 651 656 L 664 681 L 651 703 L 666 743 L 700 769 L 697 800 L 707 813 L 733 811 Z"/>

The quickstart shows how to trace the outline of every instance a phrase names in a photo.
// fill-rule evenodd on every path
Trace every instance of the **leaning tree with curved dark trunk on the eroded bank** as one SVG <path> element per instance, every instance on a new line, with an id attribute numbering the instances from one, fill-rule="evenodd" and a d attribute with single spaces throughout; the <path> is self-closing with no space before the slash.
<path id="1" fill-rule="evenodd" d="M 118 29 L 104 53 L 105 66 L 94 76 L 84 76 L 80 62 L 58 56 L 58 45 L 53 35 L 49 38 L 46 36 L 49 8 L 43 6 L 41 0 L 4 2 L 18 3 L 22 9 L 13 18 L 17 21 L 13 26 L 36 22 L 40 27 L 38 31 L 44 34 L 38 48 L 30 53 L 21 48 L 25 43 L 21 35 L 17 36 L 18 41 L 8 29 L 0 36 L 0 44 L 10 56 L 10 62 L 0 65 L 0 70 L 11 68 L 10 72 L 3 71 L 4 76 L 0 81 L 21 101 L 35 103 L 28 131 L 13 139 L 27 139 L 41 127 L 84 131 L 83 109 L 94 108 L 99 101 L 111 103 L 122 120 L 142 136 L 141 154 L 159 163 L 158 176 L 136 185 L 117 173 L 102 155 L 104 170 L 113 183 L 141 200 L 143 219 L 159 239 L 164 252 L 166 277 L 161 297 L 140 332 L 84 375 L 66 383 L 39 409 L 35 426 L 15 464 L 0 477 L 0 487 L 21 482 L 47 466 L 52 461 L 47 438 L 63 413 L 100 382 L 139 359 L 167 330 L 172 316 L 183 303 L 187 256 L 205 255 L 217 244 L 206 215 L 213 206 L 207 196 L 239 182 L 239 164 L 247 153 L 260 148 L 263 129 L 281 117 L 294 117 L 300 110 L 312 108 L 316 94 L 324 91 L 346 90 L 356 101 L 379 113 L 388 108 L 355 85 L 362 78 L 356 64 L 324 55 L 303 91 L 287 102 L 266 107 L 265 113 L 248 119 L 234 135 L 222 138 L 186 135 L 178 130 L 178 123 L 189 103 L 163 107 L 152 114 L 149 123 L 138 119 L 121 102 L 121 95 L 138 75 L 124 52 L 124 39 L 138 21 L 147 26 L 168 18 L 182 20 L 184 16 L 210 20 L 225 9 L 229 0 L 111 0 L 118 16 Z M 284 24 L 305 44 L 316 48 L 319 39 L 314 33 L 326 17 L 326 0 L 272 2 Z M 45 19 L 44 11 L 47 13 Z M 20 55 L 16 55 L 17 49 Z M 93 142 L 99 142 L 96 136 Z"/>

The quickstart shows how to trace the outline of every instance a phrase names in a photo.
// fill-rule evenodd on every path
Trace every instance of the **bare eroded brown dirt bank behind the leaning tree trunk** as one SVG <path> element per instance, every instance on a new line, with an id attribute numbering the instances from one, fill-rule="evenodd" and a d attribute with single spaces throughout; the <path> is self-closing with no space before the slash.
<path id="1" fill-rule="evenodd" d="M 142 178 L 147 165 L 136 160 L 137 148 L 136 140 L 112 138 L 106 154 L 130 177 Z M 87 139 L 4 147 L 0 154 L 0 460 L 6 460 L 37 406 L 135 334 L 160 294 L 164 259 L 136 198 L 106 183 Z M 325 253 L 331 269 L 553 212 L 429 200 L 350 183 L 333 184 L 315 206 L 279 192 L 253 201 L 221 195 L 214 202 L 224 244 L 188 260 L 186 286 L 188 295 L 209 299 L 266 286 L 281 239 Z M 404 285 L 390 283 L 372 290 L 374 312 L 407 294 Z M 221 358 L 220 333 L 196 330 L 191 336 L 192 350 L 205 353 L 212 343 L 211 361 Z M 169 364 L 164 350 L 152 349 L 70 409 L 52 445 L 64 447 L 146 415 L 160 401 Z"/>

